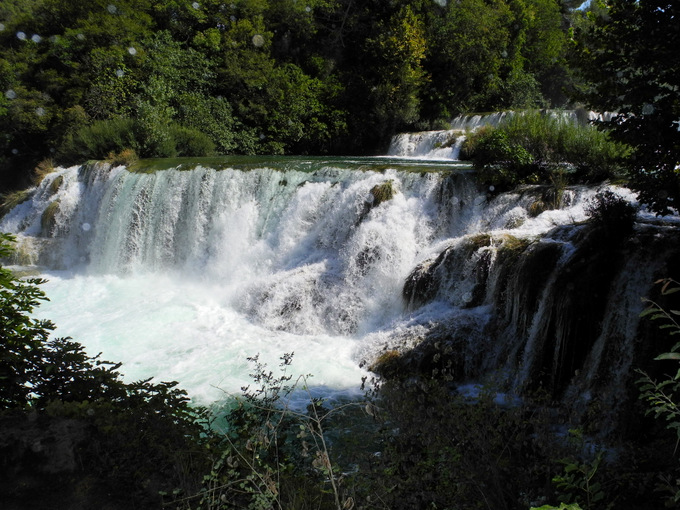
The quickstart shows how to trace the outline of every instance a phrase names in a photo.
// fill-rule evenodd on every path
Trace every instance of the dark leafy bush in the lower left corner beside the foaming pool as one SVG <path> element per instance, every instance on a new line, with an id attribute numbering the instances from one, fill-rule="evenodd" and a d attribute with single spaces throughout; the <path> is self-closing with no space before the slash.
<path id="1" fill-rule="evenodd" d="M 13 241 L 0 234 L 0 258 Z M 120 364 L 49 339 L 54 324 L 31 317 L 46 299 L 43 281 L 0 267 L 0 499 L 8 508 L 160 508 L 159 490 L 197 491 L 209 467 L 202 411 L 174 382 L 126 384 Z"/>

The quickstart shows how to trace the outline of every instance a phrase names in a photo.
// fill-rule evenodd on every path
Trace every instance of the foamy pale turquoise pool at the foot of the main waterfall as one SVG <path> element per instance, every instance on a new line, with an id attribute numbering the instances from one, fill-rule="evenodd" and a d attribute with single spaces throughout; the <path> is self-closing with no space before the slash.
<path id="1" fill-rule="evenodd" d="M 359 393 L 365 375 L 357 360 L 359 339 L 258 326 L 233 309 L 219 285 L 159 274 L 43 276 L 50 301 L 36 315 L 57 325 L 55 336 L 70 336 L 91 355 L 123 362 L 128 382 L 179 381 L 195 402 L 208 404 L 252 382 L 247 358 L 259 355 L 276 373 L 279 357 L 294 353 L 289 373 L 311 373 L 316 392 Z"/>

